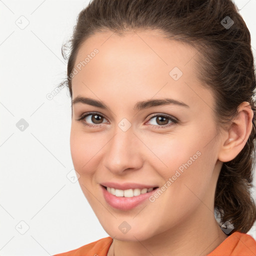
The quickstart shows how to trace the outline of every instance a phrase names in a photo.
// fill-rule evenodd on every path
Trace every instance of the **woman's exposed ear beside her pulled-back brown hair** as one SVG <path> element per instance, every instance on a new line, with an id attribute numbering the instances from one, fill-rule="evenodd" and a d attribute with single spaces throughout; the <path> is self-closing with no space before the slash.
<path id="1" fill-rule="evenodd" d="M 223 133 L 218 159 L 227 162 L 242 150 L 252 129 L 253 111 L 247 101 L 238 106 L 237 116 Z"/>

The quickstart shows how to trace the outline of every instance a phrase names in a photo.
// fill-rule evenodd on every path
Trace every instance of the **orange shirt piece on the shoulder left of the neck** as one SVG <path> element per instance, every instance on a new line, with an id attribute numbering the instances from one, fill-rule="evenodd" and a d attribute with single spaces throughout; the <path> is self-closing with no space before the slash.
<path id="1" fill-rule="evenodd" d="M 112 240 L 113 239 L 110 236 L 104 237 L 97 241 L 85 244 L 77 249 L 54 254 L 53 256 L 106 256 Z"/>

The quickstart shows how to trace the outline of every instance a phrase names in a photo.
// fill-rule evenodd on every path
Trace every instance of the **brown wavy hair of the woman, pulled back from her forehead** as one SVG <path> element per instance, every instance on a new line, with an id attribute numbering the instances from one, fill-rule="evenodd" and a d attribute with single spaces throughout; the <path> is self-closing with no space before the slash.
<path id="1" fill-rule="evenodd" d="M 214 209 L 221 222 L 228 220 L 234 226 L 232 232 L 247 232 L 256 219 L 250 194 L 255 159 L 256 84 L 250 33 L 238 8 L 231 0 L 90 1 L 78 15 L 68 41 L 68 54 L 66 45 L 62 46 L 68 64 L 61 85 L 67 85 L 71 97 L 70 74 L 81 43 L 96 32 L 109 30 L 122 35 L 132 29 L 157 29 L 166 38 L 186 42 L 198 50 L 198 59 L 194 58 L 196 75 L 213 92 L 218 125 L 231 121 L 241 102 L 249 102 L 254 113 L 252 131 L 238 155 L 223 163 L 214 198 Z"/>

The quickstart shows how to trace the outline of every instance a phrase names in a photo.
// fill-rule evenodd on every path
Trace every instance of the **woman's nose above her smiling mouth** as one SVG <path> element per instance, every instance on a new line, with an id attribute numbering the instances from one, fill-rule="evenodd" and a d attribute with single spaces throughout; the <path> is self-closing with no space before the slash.
<path id="1" fill-rule="evenodd" d="M 132 127 L 123 131 L 119 127 L 105 146 L 103 165 L 113 174 L 126 174 L 128 170 L 140 169 L 143 165 L 143 143 Z"/>

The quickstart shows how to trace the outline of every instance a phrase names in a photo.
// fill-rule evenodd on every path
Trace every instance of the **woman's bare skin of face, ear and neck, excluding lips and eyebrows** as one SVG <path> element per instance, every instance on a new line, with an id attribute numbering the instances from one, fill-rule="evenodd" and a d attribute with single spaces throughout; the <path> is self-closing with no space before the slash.
<path id="1" fill-rule="evenodd" d="M 248 102 L 218 133 L 212 92 L 195 76 L 193 47 L 167 40 L 156 30 L 124 36 L 97 32 L 81 44 L 75 65 L 94 48 L 99 52 L 72 78 L 72 99 L 80 95 L 101 100 L 107 109 L 72 105 L 70 150 L 81 189 L 113 238 L 107 255 L 207 255 L 227 237 L 214 218 L 214 191 L 222 162 L 233 159 L 250 134 L 253 112 Z M 169 75 L 175 66 L 183 72 L 178 80 Z M 133 110 L 138 101 L 165 97 L 189 107 Z M 93 115 L 86 118 L 98 127 L 76 120 L 90 111 L 106 117 L 101 115 L 101 124 Z M 156 114 L 179 121 L 167 127 L 171 120 L 157 123 Z M 118 127 L 123 118 L 132 124 L 127 131 Z M 99 183 L 161 187 L 197 151 L 200 156 L 154 202 L 146 200 L 123 211 L 104 200 Z M 125 234 L 118 228 L 122 221 L 131 226 Z"/>

